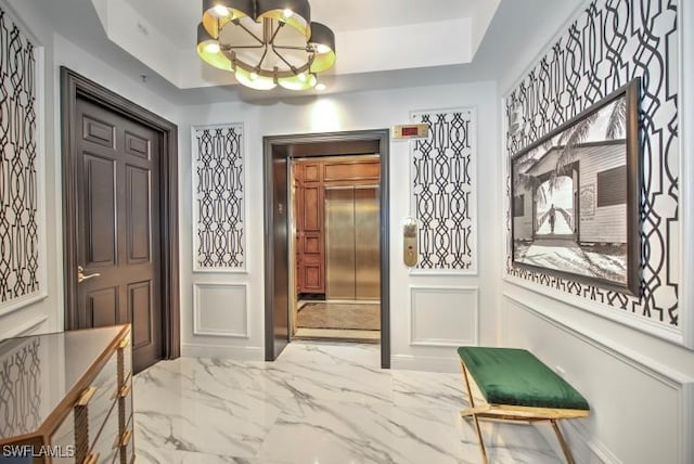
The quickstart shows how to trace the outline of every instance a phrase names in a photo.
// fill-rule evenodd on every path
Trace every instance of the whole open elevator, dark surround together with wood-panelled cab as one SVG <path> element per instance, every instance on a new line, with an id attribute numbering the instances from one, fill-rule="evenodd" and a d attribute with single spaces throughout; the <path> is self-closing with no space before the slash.
<path id="1" fill-rule="evenodd" d="M 378 344 L 381 366 L 390 366 L 388 167 L 388 129 L 264 138 L 266 360 L 277 359 L 294 339 L 319 337 Z M 333 192 L 338 188 L 351 191 L 351 207 L 349 196 L 343 198 Z M 334 217 L 331 205 L 335 199 L 344 201 L 344 217 Z M 377 210 L 377 218 L 361 214 L 367 209 L 360 204 Z M 333 305 L 327 295 L 340 295 L 342 291 L 332 292 L 335 272 L 329 271 L 329 260 L 333 261 L 335 237 L 325 224 L 336 220 L 355 223 L 346 241 L 352 244 L 349 262 L 345 270 L 335 268 L 338 274 L 351 275 L 352 283 L 343 286 L 354 289 Z M 368 231 L 374 227 L 376 242 L 367 239 L 373 237 Z M 357 244 L 362 242 L 370 242 L 372 253 L 358 250 Z M 377 268 L 364 266 L 370 260 Z M 350 267 L 351 273 L 345 272 Z M 372 278 L 360 284 L 362 274 Z M 371 299 L 374 296 L 376 299 Z M 321 318 L 335 312 L 351 317 L 342 318 L 340 327 L 320 328 Z M 297 323 L 299 319 L 307 323 Z M 358 330 L 352 330 L 352 324 Z M 305 334 L 299 334 L 298 327 Z M 342 336 L 332 335 L 338 332 Z"/>

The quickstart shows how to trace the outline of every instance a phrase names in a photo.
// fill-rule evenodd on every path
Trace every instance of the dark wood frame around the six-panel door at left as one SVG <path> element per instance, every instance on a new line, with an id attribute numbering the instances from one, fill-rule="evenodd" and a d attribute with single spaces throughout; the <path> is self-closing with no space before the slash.
<path id="1" fill-rule="evenodd" d="M 160 134 L 162 357 L 181 352 L 178 252 L 178 126 L 99 83 L 61 66 L 63 164 L 63 272 L 65 330 L 77 327 L 77 179 L 75 117 L 82 99 L 146 126 Z"/>

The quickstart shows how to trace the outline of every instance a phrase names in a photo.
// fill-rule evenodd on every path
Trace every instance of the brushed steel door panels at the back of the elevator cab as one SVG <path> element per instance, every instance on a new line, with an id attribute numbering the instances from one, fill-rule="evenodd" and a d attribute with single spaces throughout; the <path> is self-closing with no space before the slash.
<path id="1" fill-rule="evenodd" d="M 378 188 L 325 189 L 327 299 L 380 299 Z"/>

